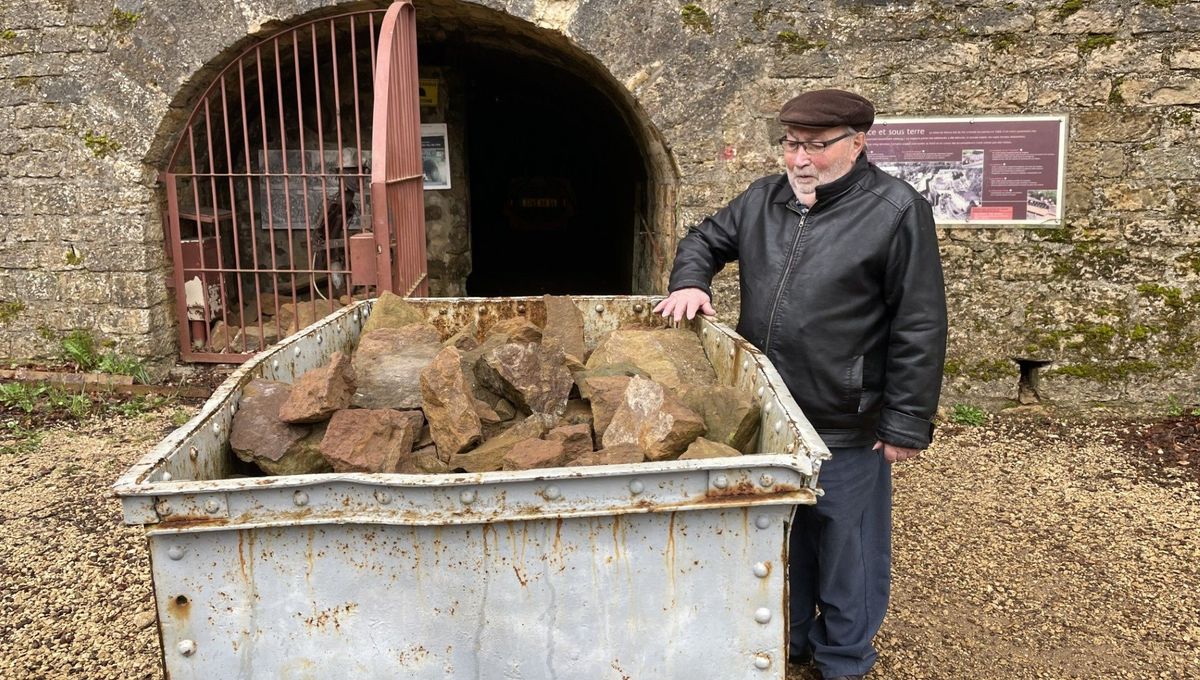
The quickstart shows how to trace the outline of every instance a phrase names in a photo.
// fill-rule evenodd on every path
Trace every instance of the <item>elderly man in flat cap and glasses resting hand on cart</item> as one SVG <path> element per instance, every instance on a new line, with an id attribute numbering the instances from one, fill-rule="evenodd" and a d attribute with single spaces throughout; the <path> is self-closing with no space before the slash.
<path id="1" fill-rule="evenodd" d="M 866 160 L 875 107 L 841 90 L 784 104 L 786 174 L 688 231 L 655 311 L 713 314 L 713 275 L 740 260 L 738 332 L 779 369 L 833 452 L 797 510 L 788 660 L 860 678 L 890 588 L 892 470 L 929 446 L 946 294 L 929 204 Z"/>

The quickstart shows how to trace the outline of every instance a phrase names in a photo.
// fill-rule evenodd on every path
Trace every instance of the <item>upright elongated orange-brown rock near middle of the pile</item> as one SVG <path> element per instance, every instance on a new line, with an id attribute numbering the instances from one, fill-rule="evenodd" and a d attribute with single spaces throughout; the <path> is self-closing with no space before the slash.
<path id="1" fill-rule="evenodd" d="M 470 395 L 457 349 L 443 349 L 425 367 L 421 396 L 430 434 L 444 459 L 479 444 L 484 431 L 476 411 L 478 399 Z"/>

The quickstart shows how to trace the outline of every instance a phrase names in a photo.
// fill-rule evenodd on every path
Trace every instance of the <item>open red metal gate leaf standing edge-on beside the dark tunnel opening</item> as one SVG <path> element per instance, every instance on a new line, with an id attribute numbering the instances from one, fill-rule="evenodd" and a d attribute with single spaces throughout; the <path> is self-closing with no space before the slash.
<path id="1" fill-rule="evenodd" d="M 380 287 L 402 295 L 428 295 L 421 118 L 416 76 L 416 19 L 410 0 L 388 8 L 379 36 L 371 200 Z M 389 229 L 389 224 L 403 225 Z M 397 234 L 397 239 L 392 239 Z M 391 240 L 385 240 L 391 239 Z"/>

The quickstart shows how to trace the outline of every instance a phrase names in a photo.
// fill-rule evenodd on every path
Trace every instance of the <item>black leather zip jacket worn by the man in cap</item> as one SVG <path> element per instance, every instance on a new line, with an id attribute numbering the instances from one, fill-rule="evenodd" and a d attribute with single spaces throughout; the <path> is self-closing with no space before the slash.
<path id="1" fill-rule="evenodd" d="M 740 260 L 738 332 L 782 375 L 828 446 L 924 449 L 946 357 L 946 290 L 929 204 L 859 155 L 811 209 L 763 177 L 679 241 L 671 290 L 709 294 Z"/>

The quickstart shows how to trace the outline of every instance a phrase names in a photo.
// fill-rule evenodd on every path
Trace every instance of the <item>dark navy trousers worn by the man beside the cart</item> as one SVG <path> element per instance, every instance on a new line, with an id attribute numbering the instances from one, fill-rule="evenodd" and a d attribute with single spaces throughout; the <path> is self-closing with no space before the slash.
<path id="1" fill-rule="evenodd" d="M 863 675 L 892 585 L 892 465 L 870 446 L 829 451 L 824 495 L 792 524 L 790 652 L 826 678 Z"/>

